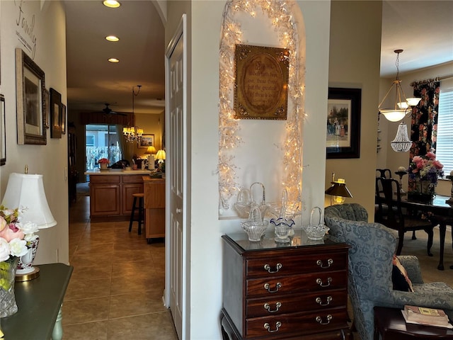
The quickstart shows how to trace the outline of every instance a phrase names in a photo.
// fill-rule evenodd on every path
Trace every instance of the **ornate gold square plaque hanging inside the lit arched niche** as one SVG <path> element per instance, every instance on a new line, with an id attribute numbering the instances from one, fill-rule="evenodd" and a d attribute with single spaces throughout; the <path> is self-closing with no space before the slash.
<path id="1" fill-rule="evenodd" d="M 234 118 L 287 119 L 289 50 L 236 44 Z"/>

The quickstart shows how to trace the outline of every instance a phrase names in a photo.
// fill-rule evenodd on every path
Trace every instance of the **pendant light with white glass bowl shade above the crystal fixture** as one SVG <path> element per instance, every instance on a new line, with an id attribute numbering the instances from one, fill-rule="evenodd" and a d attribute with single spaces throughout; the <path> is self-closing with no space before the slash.
<path id="1" fill-rule="evenodd" d="M 403 50 L 394 50 L 394 52 L 396 53 L 396 79 L 392 82 L 389 91 L 387 91 L 381 103 L 379 103 L 379 113 L 382 113 L 384 117 L 391 122 L 398 122 L 403 119 L 406 114 L 411 112 L 409 108 L 416 106 L 420 101 L 420 98 L 406 98 L 404 95 L 404 91 L 401 88 L 401 80 L 399 80 L 399 54 L 403 52 Z M 392 108 L 382 108 L 382 104 L 392 90 L 395 93 L 394 106 Z"/>

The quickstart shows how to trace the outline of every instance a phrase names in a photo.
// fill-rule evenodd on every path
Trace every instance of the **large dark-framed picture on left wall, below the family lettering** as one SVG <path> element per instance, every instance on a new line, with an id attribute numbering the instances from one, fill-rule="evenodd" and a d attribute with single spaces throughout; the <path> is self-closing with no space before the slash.
<path id="1" fill-rule="evenodd" d="M 17 142 L 46 145 L 45 74 L 16 48 Z"/>

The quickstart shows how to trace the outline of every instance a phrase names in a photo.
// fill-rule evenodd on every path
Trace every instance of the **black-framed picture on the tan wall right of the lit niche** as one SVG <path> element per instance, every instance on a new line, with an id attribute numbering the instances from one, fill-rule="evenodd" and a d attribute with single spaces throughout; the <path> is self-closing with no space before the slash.
<path id="1" fill-rule="evenodd" d="M 329 87 L 327 159 L 360 158 L 362 89 Z"/>

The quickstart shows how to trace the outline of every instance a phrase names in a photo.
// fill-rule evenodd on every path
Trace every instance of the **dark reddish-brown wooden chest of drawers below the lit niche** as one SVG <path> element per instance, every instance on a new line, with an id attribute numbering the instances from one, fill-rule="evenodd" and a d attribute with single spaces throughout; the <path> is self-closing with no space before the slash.
<path id="1" fill-rule="evenodd" d="M 273 234 L 222 239 L 225 340 L 348 336 L 347 244 L 312 242 L 302 230 L 283 245 Z"/>

